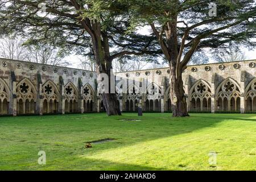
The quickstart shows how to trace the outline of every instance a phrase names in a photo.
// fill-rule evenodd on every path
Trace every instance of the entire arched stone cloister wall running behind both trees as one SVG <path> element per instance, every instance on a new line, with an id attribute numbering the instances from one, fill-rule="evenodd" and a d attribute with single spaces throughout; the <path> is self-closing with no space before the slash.
<path id="1" fill-rule="evenodd" d="M 189 66 L 189 111 L 256 111 L 256 60 Z M 122 111 L 171 111 L 168 68 L 115 73 Z M 104 111 L 96 72 L 0 59 L 0 114 Z M 122 83 L 122 84 L 121 84 Z"/>

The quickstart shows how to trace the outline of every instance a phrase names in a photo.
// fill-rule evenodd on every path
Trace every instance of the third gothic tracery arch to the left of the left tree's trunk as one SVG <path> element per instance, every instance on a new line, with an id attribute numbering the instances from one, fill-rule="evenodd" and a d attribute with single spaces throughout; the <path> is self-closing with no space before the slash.
<path id="1" fill-rule="evenodd" d="M 46 81 L 42 86 L 43 113 L 57 113 L 59 110 L 60 93 L 55 83 Z"/>

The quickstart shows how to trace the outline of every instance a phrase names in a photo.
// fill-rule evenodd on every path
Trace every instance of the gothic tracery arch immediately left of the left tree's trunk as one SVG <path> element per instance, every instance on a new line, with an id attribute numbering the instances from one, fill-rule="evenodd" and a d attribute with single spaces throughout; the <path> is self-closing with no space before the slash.
<path id="1" fill-rule="evenodd" d="M 82 88 L 82 95 L 84 97 L 83 104 L 84 104 L 84 111 L 93 111 L 94 105 L 94 91 L 90 84 L 85 84 Z"/>

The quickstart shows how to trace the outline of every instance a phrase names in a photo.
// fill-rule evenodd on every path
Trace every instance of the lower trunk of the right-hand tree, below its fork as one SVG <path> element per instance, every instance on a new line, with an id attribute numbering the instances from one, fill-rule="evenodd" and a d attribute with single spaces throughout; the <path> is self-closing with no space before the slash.
<path id="1" fill-rule="evenodd" d="M 181 74 L 178 74 L 178 75 L 179 76 L 176 77 L 176 72 L 170 71 L 170 77 L 171 77 L 170 78 L 171 79 L 170 98 L 172 102 L 172 116 L 186 117 L 186 116 L 189 116 L 187 111 L 187 100 L 186 100 L 185 91 L 183 88 L 182 76 Z"/>

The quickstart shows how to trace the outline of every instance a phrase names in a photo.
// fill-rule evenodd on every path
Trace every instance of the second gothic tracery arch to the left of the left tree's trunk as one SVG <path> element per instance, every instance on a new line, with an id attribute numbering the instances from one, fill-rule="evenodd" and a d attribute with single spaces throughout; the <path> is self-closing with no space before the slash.
<path id="1" fill-rule="evenodd" d="M 76 86 L 72 82 L 68 82 L 64 86 L 64 98 L 65 113 L 77 113 L 79 94 Z"/>

